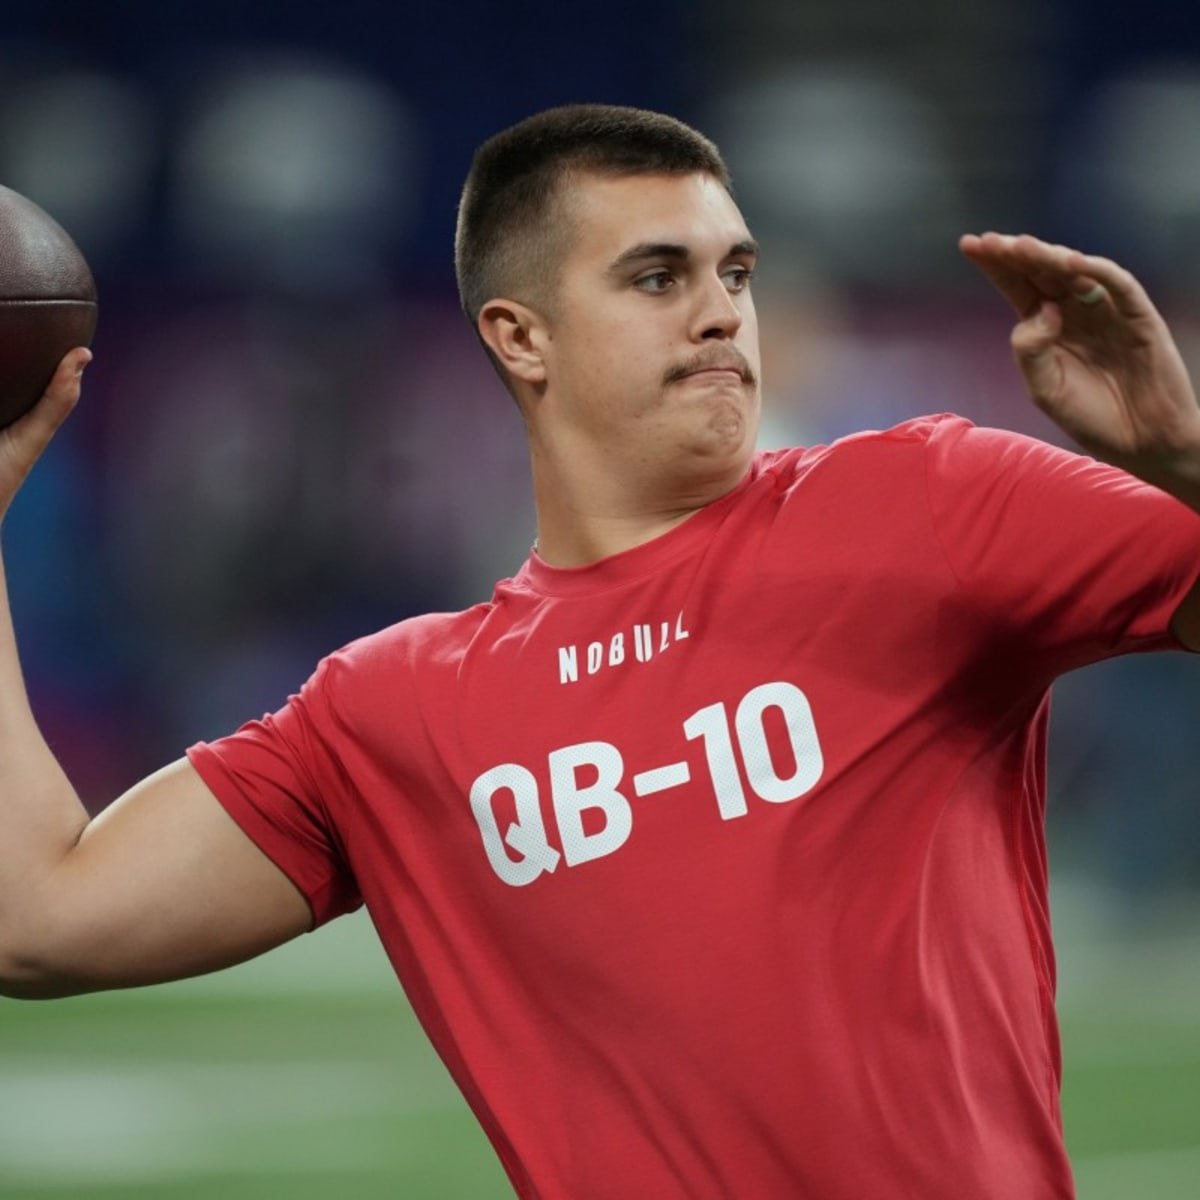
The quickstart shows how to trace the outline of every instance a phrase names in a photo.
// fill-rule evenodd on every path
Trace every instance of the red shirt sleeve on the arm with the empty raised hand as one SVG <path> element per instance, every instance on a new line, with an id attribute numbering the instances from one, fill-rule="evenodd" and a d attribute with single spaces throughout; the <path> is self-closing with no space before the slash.
<path id="1" fill-rule="evenodd" d="M 932 424 L 937 539 L 968 602 L 1032 637 L 1060 673 L 1180 649 L 1170 622 L 1200 572 L 1200 516 L 1123 470 L 1034 438 Z"/>

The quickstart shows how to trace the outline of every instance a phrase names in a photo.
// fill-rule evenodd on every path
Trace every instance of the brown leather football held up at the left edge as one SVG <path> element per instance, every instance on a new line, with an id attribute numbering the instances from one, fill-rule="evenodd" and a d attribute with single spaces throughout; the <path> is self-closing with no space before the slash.
<path id="1" fill-rule="evenodd" d="M 79 247 L 32 200 L 0 186 L 0 427 L 37 403 L 67 350 L 91 343 L 96 312 Z"/>

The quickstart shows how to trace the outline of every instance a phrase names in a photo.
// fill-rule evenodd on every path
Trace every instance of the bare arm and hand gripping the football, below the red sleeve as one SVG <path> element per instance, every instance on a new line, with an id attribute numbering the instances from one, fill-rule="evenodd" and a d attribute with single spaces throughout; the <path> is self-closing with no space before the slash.
<path id="1" fill-rule="evenodd" d="M 79 396 L 86 350 L 0 431 L 0 522 Z M 29 706 L 0 565 L 0 992 L 202 974 L 311 924 L 300 892 L 184 760 L 89 821 Z"/>

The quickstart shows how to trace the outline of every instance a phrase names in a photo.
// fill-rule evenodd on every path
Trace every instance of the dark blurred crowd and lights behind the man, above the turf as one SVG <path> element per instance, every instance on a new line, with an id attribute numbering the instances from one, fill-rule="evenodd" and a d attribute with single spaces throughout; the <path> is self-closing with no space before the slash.
<path id="1" fill-rule="evenodd" d="M 50 0 L 0 35 L 0 182 L 102 298 L 84 403 L 5 529 L 34 702 L 92 808 L 528 552 L 522 431 L 450 268 L 473 146 L 536 108 L 665 108 L 721 143 L 766 247 L 764 444 L 948 409 L 1061 440 L 968 229 L 1122 258 L 1200 377 L 1182 6 L 1136 37 L 1066 0 L 172 7 L 94 29 Z M 1057 852 L 1130 896 L 1200 886 L 1194 664 L 1096 668 L 1058 709 Z"/>

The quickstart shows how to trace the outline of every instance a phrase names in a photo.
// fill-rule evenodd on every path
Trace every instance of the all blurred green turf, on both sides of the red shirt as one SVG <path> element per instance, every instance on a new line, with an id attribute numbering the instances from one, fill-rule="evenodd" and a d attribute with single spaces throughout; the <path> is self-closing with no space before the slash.
<path id="1" fill-rule="evenodd" d="M 1056 901 L 1080 1196 L 1194 1200 L 1200 914 L 1117 937 L 1102 906 Z M 329 1195 L 511 1196 L 360 917 L 210 979 L 0 1001 L 0 1196 Z"/>

